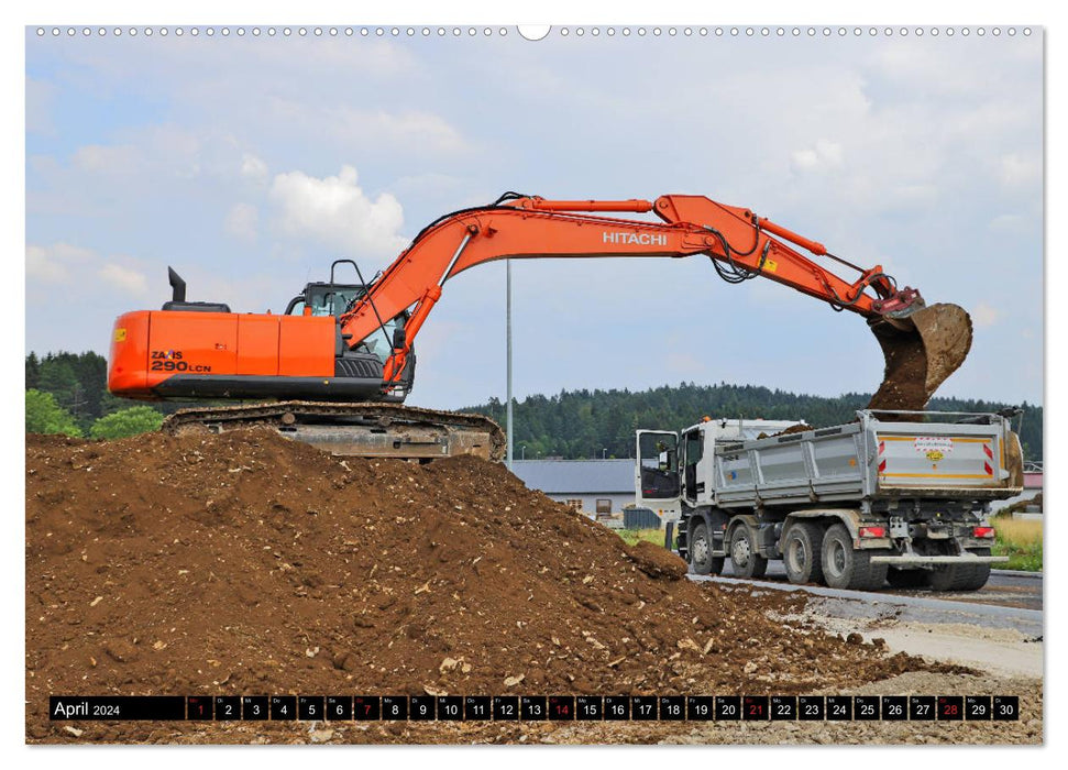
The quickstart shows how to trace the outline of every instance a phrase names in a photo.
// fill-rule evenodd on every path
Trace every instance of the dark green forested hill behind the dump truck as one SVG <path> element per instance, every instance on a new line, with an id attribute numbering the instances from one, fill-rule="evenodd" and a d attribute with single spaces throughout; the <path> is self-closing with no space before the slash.
<path id="1" fill-rule="evenodd" d="M 638 429 L 679 430 L 713 418 L 804 420 L 815 428 L 856 418 L 871 394 L 847 393 L 828 398 L 771 389 L 760 385 L 696 385 L 682 383 L 649 391 L 561 391 L 555 396 L 528 396 L 513 404 L 515 457 L 528 460 L 561 458 L 632 458 Z M 929 409 L 945 411 L 999 411 L 1019 406 L 1012 420 L 1026 460 L 1042 460 L 1043 408 L 1024 402 L 1004 404 L 975 398 L 932 398 Z M 476 413 L 505 425 L 505 403 L 486 404 L 462 411 Z M 1022 432 L 1021 432 L 1022 428 Z"/>

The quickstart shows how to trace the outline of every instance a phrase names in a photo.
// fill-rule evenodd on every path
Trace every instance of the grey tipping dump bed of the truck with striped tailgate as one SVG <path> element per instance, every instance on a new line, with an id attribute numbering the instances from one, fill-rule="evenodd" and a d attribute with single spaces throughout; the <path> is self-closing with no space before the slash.
<path id="1" fill-rule="evenodd" d="M 906 421 L 921 415 L 924 421 Z M 999 415 L 861 410 L 857 416 L 856 422 L 833 428 L 718 444 L 716 505 L 1001 499 L 1022 490 L 1020 443 Z"/>

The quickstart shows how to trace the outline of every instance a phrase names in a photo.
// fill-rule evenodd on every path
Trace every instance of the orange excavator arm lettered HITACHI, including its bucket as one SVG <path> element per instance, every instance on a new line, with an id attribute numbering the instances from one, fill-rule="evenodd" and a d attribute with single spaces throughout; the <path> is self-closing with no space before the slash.
<path id="1" fill-rule="evenodd" d="M 605 216 L 647 212 L 661 221 Z M 846 280 L 783 241 L 859 275 Z M 411 344 L 444 284 L 470 267 L 502 258 L 695 254 L 711 257 L 728 283 L 762 276 L 867 318 L 887 358 L 887 376 L 871 408 L 922 408 L 970 348 L 970 321 L 959 307 L 926 308 L 916 289 L 898 289 L 880 265 L 858 267 L 749 209 L 682 195 L 656 201 L 598 201 L 506 194 L 492 206 L 442 217 L 423 229 L 341 317 L 342 333 L 354 346 L 384 320 L 410 309 L 385 363 L 388 388 L 400 382 Z"/>

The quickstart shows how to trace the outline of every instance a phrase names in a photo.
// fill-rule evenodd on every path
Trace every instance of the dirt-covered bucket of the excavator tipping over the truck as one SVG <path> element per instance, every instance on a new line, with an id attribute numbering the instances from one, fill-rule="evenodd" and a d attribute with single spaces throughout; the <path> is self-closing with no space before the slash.
<path id="1" fill-rule="evenodd" d="M 971 350 L 971 318 L 958 305 L 939 302 L 869 324 L 887 359 L 869 409 L 923 409 Z"/>

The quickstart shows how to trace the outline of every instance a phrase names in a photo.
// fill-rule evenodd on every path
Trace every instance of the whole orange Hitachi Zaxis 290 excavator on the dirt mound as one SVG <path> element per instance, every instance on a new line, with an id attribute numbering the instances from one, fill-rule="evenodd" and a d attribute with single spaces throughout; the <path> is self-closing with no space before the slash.
<path id="1" fill-rule="evenodd" d="M 649 212 L 659 221 L 610 216 Z M 844 279 L 785 242 L 858 275 Z M 187 301 L 170 270 L 173 298 L 162 310 L 115 321 L 108 388 L 139 399 L 239 402 L 179 410 L 166 421 L 172 432 L 269 425 L 338 454 L 499 459 L 504 437 L 491 420 L 403 404 L 415 381 L 415 339 L 445 283 L 502 258 L 691 255 L 708 256 L 728 283 L 760 276 L 862 316 L 887 360 L 869 408 L 922 409 L 968 354 L 971 323 L 961 308 L 927 307 L 881 266 L 851 264 L 750 209 L 687 195 L 546 200 L 506 193 L 434 220 L 370 283 L 354 262 L 334 262 L 330 282 L 308 284 L 285 314 Z M 344 263 L 357 283 L 335 280 Z"/>

